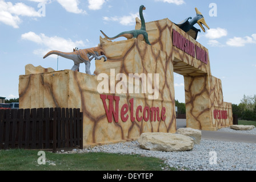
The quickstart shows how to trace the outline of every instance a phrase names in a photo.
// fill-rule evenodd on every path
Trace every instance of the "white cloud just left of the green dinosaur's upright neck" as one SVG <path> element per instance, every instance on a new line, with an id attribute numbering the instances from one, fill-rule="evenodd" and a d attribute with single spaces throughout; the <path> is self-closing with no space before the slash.
<path id="1" fill-rule="evenodd" d="M 103 20 L 119 22 L 122 25 L 131 26 L 131 25 L 135 24 L 135 18 L 138 17 L 138 16 L 139 16 L 138 13 L 137 14 L 130 13 L 130 15 L 122 16 L 122 17 L 117 17 L 117 16 L 107 17 L 107 16 L 104 16 Z"/>

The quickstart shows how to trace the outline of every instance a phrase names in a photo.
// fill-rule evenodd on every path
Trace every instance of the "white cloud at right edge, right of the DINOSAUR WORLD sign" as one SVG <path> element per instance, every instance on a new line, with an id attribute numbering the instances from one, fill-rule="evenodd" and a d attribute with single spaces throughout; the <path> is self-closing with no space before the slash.
<path id="1" fill-rule="evenodd" d="M 256 43 L 256 34 L 253 34 L 251 36 L 245 36 L 244 38 L 241 37 L 234 37 L 232 39 L 227 40 L 226 44 L 228 46 L 233 47 L 243 47 L 245 44 L 252 44 Z"/>

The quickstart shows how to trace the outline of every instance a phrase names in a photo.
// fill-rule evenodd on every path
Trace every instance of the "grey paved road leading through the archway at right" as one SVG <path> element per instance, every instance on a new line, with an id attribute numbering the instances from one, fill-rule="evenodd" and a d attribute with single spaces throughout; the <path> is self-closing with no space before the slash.
<path id="1" fill-rule="evenodd" d="M 186 127 L 186 119 L 177 119 L 177 129 Z M 229 142 L 256 143 L 256 135 L 231 133 L 222 131 L 202 130 L 202 139 L 221 140 Z"/>

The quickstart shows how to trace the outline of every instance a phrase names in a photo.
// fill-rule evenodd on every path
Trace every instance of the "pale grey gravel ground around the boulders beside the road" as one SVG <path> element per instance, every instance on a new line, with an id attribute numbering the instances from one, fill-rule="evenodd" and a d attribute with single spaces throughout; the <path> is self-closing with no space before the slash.
<path id="1" fill-rule="evenodd" d="M 237 131 L 223 128 L 218 131 L 255 134 L 256 128 L 250 131 Z M 132 142 L 107 144 L 73 150 L 72 152 L 107 152 L 119 154 L 139 154 L 165 160 L 170 167 L 179 170 L 199 171 L 256 171 L 255 143 L 223 142 L 202 139 L 191 151 L 161 152 L 149 151 L 139 147 L 137 140 Z M 66 152 L 65 152 L 66 153 Z M 214 157 L 216 158 L 214 159 Z"/>

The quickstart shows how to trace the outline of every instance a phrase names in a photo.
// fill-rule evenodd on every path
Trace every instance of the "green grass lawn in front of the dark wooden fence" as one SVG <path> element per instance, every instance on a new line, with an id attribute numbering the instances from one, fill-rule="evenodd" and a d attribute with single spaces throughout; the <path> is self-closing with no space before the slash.
<path id="1" fill-rule="evenodd" d="M 0 150 L 0 171 L 162 171 L 175 170 L 163 160 L 139 155 L 98 153 L 56 154 L 46 151 L 46 164 L 39 165 L 35 150 Z M 50 163 L 56 166 L 49 165 Z"/>

